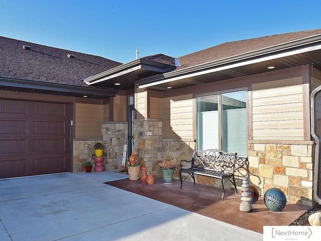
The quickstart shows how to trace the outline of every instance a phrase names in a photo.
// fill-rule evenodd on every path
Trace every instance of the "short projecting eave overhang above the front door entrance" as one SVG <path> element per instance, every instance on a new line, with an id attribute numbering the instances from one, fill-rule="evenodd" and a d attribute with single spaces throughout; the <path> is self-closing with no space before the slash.
<path id="1" fill-rule="evenodd" d="M 127 90 L 134 88 L 136 80 L 165 73 L 173 68 L 170 64 L 140 58 L 85 78 L 84 82 L 92 86 Z"/>

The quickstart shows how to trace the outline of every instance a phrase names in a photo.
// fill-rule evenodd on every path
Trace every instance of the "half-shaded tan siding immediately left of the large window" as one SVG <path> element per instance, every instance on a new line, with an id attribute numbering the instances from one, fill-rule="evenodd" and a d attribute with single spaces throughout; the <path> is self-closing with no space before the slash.
<path id="1" fill-rule="evenodd" d="M 163 138 L 193 138 L 193 96 L 163 99 Z"/>

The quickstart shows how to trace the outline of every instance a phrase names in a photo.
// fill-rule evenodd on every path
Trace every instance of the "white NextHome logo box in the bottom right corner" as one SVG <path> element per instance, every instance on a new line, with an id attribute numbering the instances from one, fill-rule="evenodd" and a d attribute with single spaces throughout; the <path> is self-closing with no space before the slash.
<path id="1" fill-rule="evenodd" d="M 320 240 L 321 226 L 264 226 L 263 240 Z"/>

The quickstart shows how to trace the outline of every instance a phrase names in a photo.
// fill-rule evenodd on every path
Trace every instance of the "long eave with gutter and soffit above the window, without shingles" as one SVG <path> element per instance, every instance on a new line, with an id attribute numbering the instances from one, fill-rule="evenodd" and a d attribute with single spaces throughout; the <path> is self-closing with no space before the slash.
<path id="1" fill-rule="evenodd" d="M 138 88 L 168 90 L 242 77 L 273 70 L 313 64 L 321 70 L 321 35 L 291 41 L 256 51 L 174 70 L 135 82 Z"/>

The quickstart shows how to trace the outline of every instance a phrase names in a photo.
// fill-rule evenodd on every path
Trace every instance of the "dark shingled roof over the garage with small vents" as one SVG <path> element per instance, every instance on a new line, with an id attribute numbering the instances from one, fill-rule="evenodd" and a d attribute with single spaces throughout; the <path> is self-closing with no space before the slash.
<path id="1" fill-rule="evenodd" d="M 0 77 L 88 87 L 82 79 L 118 65 L 95 55 L 0 37 Z"/>

